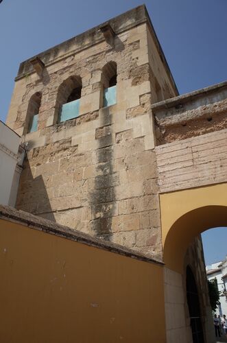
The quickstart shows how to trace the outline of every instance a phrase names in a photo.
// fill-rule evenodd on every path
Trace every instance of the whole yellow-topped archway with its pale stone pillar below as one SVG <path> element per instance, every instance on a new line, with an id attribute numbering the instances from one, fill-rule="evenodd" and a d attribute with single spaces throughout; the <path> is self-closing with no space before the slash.
<path id="1" fill-rule="evenodd" d="M 187 265 L 198 285 L 204 340 L 214 341 L 199 235 L 210 228 L 227 226 L 226 191 L 227 184 L 223 183 L 160 194 L 167 342 L 192 342 Z"/>

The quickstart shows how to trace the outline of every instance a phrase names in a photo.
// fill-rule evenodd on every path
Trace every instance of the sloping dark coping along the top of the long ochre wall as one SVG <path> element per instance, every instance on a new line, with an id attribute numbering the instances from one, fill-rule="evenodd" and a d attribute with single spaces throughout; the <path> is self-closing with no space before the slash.
<path id="1" fill-rule="evenodd" d="M 139 261 L 164 265 L 162 261 L 151 259 L 150 257 L 147 257 L 139 252 L 134 252 L 134 250 L 129 248 L 119 246 L 118 244 L 112 242 L 104 241 L 104 239 L 97 239 L 91 235 L 87 235 L 86 233 L 72 230 L 67 226 L 57 224 L 56 222 L 51 222 L 50 220 L 45 220 L 42 217 L 32 215 L 31 213 L 27 213 L 25 211 L 16 210 L 10 206 L 0 205 L 0 219 L 21 224 L 34 230 L 40 230 L 43 231 L 43 233 L 49 233 L 51 235 L 70 239 L 71 241 L 77 241 L 80 244 L 86 244 L 87 246 L 108 250 L 132 259 L 138 259 Z"/>

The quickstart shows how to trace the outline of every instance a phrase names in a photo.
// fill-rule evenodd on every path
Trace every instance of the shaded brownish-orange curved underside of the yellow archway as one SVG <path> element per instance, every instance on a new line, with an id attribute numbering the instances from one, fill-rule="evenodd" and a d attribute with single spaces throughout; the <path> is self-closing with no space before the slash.
<path id="1" fill-rule="evenodd" d="M 179 217 L 163 244 L 163 260 L 167 268 L 182 274 L 184 255 L 193 238 L 218 226 L 227 226 L 227 206 L 202 206 Z"/>

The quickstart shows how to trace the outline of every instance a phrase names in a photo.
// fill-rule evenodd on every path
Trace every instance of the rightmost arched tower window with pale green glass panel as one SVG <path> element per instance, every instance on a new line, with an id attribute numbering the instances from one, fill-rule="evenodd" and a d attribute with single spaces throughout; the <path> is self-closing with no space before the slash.
<path id="1" fill-rule="evenodd" d="M 101 82 L 104 85 L 103 107 L 116 104 L 117 63 L 108 62 L 102 69 Z"/>

